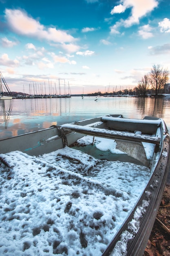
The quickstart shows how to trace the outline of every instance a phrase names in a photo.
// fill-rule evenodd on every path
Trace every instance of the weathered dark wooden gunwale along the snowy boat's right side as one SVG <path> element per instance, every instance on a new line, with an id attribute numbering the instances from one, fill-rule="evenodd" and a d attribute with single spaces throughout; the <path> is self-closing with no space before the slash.
<path id="1" fill-rule="evenodd" d="M 162 124 L 162 132 L 163 132 L 163 126 L 164 124 Z M 157 216 L 157 211 L 159 209 L 159 205 L 163 195 L 163 190 L 166 185 L 166 180 L 168 177 L 168 171 L 170 168 L 170 137 L 168 134 L 163 135 L 163 133 L 162 133 L 162 136 L 164 136 L 164 139 L 161 146 L 161 152 L 160 152 L 160 157 L 159 157 L 157 166 L 155 167 L 155 170 L 153 171 L 150 177 L 150 180 L 146 185 L 146 188 L 144 189 L 143 193 L 138 199 L 137 204 L 135 204 L 135 207 L 132 209 L 130 215 L 128 215 L 127 219 L 121 225 L 121 228 L 117 231 L 117 233 L 113 237 L 113 240 L 110 241 L 105 251 L 103 252 L 102 256 L 108 256 L 113 252 L 117 242 L 121 241 L 121 235 L 123 234 L 123 232 L 128 230 L 128 225 L 130 221 L 133 220 L 134 213 L 137 207 L 142 205 L 143 200 L 146 200 L 146 201 L 148 200 L 146 196 L 146 191 L 150 191 L 152 196 L 151 198 L 149 198 L 149 206 L 147 207 L 146 212 L 144 213 L 144 215 L 141 217 L 139 221 L 140 222 L 139 231 L 137 232 L 137 234 L 134 235 L 132 239 L 128 240 L 127 250 L 126 250 L 126 256 L 131 256 L 131 255 L 143 256 L 144 249 L 146 248 L 146 245 L 148 243 L 148 239 L 152 231 L 155 218 Z M 164 149 L 167 152 L 167 157 L 163 156 Z M 154 184 L 155 180 L 158 179 L 159 177 L 158 175 L 160 176 L 160 180 L 158 182 L 157 187 L 155 186 L 155 191 L 154 191 L 152 189 L 152 184 Z"/>

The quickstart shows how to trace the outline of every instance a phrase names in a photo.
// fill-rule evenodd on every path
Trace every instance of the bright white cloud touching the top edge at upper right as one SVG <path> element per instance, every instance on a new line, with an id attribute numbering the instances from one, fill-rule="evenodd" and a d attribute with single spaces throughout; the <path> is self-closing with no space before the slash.
<path id="1" fill-rule="evenodd" d="M 131 16 L 124 20 L 124 26 L 130 27 L 135 23 L 139 23 L 139 19 L 155 7 L 158 6 L 157 0 L 121 0 L 121 4 L 115 6 L 111 14 L 122 13 L 128 8 L 132 8 Z"/>

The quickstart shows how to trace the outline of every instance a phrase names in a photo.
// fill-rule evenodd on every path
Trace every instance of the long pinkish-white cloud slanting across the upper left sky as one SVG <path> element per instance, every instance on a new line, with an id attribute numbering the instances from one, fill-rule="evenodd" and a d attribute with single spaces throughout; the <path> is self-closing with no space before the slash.
<path id="1" fill-rule="evenodd" d="M 65 31 L 56 28 L 46 28 L 39 21 L 29 17 L 21 10 L 5 10 L 5 17 L 11 30 L 17 34 L 32 36 L 34 38 L 45 39 L 55 43 L 71 43 L 76 39 Z"/>

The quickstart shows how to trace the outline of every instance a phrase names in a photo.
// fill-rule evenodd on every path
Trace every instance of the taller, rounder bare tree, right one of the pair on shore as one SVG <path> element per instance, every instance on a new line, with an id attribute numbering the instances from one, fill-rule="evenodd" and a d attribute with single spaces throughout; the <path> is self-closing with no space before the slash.
<path id="1" fill-rule="evenodd" d="M 155 97 L 157 97 L 159 90 L 163 89 L 163 86 L 168 81 L 169 71 L 163 69 L 161 65 L 153 65 L 150 71 L 150 83 L 155 90 Z"/>

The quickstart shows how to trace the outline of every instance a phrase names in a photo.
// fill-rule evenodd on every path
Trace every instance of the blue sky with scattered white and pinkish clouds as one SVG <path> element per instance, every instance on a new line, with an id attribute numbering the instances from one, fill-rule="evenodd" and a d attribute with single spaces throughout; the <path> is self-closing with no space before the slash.
<path id="1" fill-rule="evenodd" d="M 64 83 L 72 94 L 134 88 L 154 64 L 170 70 L 169 59 L 169 0 L 0 0 L 11 91 L 59 93 L 59 79 L 62 94 Z"/>

